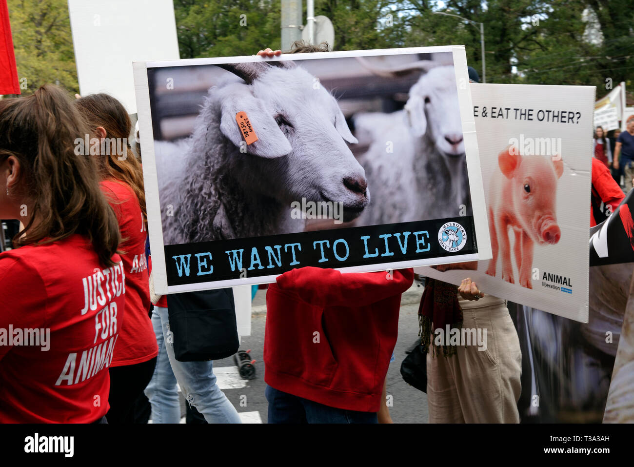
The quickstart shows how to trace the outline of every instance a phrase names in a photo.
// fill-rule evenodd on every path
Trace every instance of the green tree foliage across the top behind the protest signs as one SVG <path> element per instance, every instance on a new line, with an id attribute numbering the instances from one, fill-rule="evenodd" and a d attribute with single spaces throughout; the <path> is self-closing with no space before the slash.
<path id="1" fill-rule="evenodd" d="M 8 5 L 18 76 L 29 84 L 23 92 L 44 82 L 77 91 L 67 2 Z M 600 41 L 588 40 L 586 8 Z M 280 0 L 174 0 L 174 12 L 181 58 L 280 47 Z M 634 89 L 631 0 L 316 0 L 315 14 L 332 20 L 336 50 L 464 44 L 467 62 L 482 76 L 484 23 L 488 82 L 586 84 L 597 86 L 597 98 L 609 83 Z"/>

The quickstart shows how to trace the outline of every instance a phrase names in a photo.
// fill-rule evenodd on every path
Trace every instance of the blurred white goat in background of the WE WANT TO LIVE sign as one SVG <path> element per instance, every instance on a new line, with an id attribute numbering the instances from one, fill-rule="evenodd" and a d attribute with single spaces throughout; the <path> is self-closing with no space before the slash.
<path id="1" fill-rule="evenodd" d="M 398 76 L 417 69 L 427 72 L 411 87 L 404 110 L 354 117 L 359 133 L 373 134 L 359 158 L 373 192 L 361 225 L 472 213 L 453 66 L 424 61 L 373 71 Z M 386 150 L 390 143 L 392 154 Z"/>

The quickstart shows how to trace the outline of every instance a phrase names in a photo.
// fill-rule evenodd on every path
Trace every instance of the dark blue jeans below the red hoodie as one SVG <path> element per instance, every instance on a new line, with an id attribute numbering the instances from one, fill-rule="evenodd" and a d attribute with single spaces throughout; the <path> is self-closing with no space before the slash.
<path id="1" fill-rule="evenodd" d="M 266 386 L 264 395 L 269 402 L 268 423 L 378 423 L 376 412 L 335 409 L 271 386 Z"/>

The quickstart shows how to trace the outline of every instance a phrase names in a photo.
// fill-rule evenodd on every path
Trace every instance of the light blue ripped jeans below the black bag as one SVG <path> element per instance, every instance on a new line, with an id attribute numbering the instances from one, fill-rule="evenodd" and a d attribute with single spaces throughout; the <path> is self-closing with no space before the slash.
<path id="1" fill-rule="evenodd" d="M 207 423 L 242 423 L 235 407 L 216 384 L 213 362 L 179 362 L 174 357 L 171 333 L 168 334 L 167 308 L 154 307 L 152 324 L 159 344 L 159 356 L 145 395 L 152 404 L 153 423 L 179 422 L 176 381 L 185 399 L 196 407 Z"/>

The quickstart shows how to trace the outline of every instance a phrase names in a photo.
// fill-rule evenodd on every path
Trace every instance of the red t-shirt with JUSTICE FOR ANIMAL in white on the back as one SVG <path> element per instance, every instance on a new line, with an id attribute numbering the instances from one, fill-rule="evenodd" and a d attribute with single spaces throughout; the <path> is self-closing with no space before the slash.
<path id="1" fill-rule="evenodd" d="M 92 423 L 110 406 L 108 365 L 125 270 L 71 235 L 0 253 L 0 423 Z"/>

